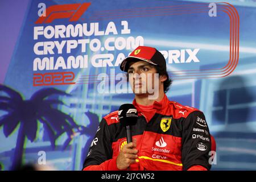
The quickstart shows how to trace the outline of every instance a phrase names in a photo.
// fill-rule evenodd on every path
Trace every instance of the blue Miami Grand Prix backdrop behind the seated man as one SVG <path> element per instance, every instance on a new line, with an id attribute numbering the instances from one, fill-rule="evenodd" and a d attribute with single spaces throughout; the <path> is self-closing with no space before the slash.
<path id="1" fill-rule="evenodd" d="M 168 98 L 204 112 L 212 169 L 255 170 L 256 2 L 210 2 L 1 1 L 1 169 L 43 151 L 56 169 L 80 170 L 101 118 L 134 98 L 118 79 L 99 92 L 98 75 L 115 78 L 144 45 L 166 57 Z"/>

